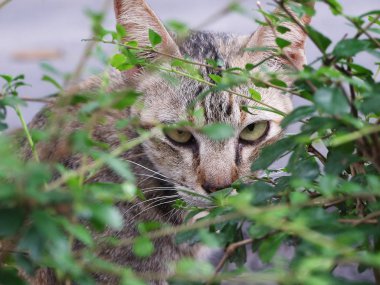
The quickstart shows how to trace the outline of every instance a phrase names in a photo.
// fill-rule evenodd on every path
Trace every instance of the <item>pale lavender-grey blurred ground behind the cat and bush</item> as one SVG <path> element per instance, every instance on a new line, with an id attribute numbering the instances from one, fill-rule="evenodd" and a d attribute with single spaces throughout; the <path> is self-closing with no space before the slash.
<path id="1" fill-rule="evenodd" d="M 147 2 L 164 22 L 178 20 L 192 28 L 201 27 L 203 30 L 237 34 L 250 34 L 257 27 L 252 18 L 237 12 L 214 17 L 228 7 L 230 0 L 148 0 Z M 272 9 L 270 1 L 262 2 L 265 9 Z M 246 11 L 260 18 L 255 12 L 256 1 L 241 0 L 239 3 Z M 378 0 L 343 2 L 345 13 L 348 15 L 359 15 L 373 10 L 378 4 Z M 20 89 L 22 96 L 43 97 L 56 92 L 53 85 L 41 81 L 43 74 L 47 73 L 46 68 L 41 68 L 41 63 L 48 63 L 62 74 L 73 72 L 86 46 L 82 39 L 91 37 L 91 21 L 85 11 L 99 12 L 103 9 L 107 11 L 106 28 L 114 29 L 112 0 L 11 0 L 0 9 L 0 74 L 12 76 L 25 74 L 25 80 L 30 86 Z M 317 15 L 313 25 L 333 41 L 341 39 L 352 31 L 344 19 L 334 17 L 328 7 L 322 3 L 317 4 Z M 112 54 L 114 51 L 113 47 L 103 46 L 103 48 L 107 54 Z M 309 43 L 307 45 L 309 61 L 318 55 L 316 48 Z M 360 58 L 360 61 L 368 68 L 374 69 L 372 58 Z M 96 62 L 90 62 L 86 66 L 84 77 L 89 73 L 99 73 L 101 71 L 99 66 Z M 61 74 L 57 73 L 53 77 L 59 81 L 60 76 Z M 29 103 L 28 107 L 23 109 L 26 120 L 30 121 L 41 107 L 41 104 Z M 8 116 L 8 124 L 10 128 L 19 126 L 18 119 L 12 111 Z"/>

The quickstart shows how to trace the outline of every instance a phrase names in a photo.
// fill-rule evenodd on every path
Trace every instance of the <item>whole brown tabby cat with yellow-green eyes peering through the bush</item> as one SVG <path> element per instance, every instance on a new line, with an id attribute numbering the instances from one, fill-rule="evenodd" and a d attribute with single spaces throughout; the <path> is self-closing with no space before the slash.
<path id="1" fill-rule="evenodd" d="M 149 29 L 161 36 L 162 43 L 155 47 L 158 53 L 148 51 L 142 54 L 150 61 L 168 61 L 170 58 L 166 55 L 186 56 L 202 63 L 206 59 L 212 59 L 220 63 L 220 68 L 245 68 L 247 63 L 258 63 L 268 56 L 268 51 L 252 52 L 246 48 L 277 47 L 276 36 L 268 25 L 260 26 L 251 36 L 193 31 L 185 39 L 180 39 L 164 27 L 144 0 L 115 0 L 114 8 L 118 24 L 127 31 L 125 41 L 137 41 L 140 46 L 148 46 Z M 306 24 L 310 18 L 305 16 L 299 21 Z M 288 58 L 273 57 L 267 60 L 264 65 L 270 71 L 280 72 L 290 65 L 302 68 L 305 64 L 305 33 L 290 21 L 283 26 L 290 29 L 281 35 L 292 42 L 285 49 Z M 289 58 L 292 62 L 289 62 Z M 205 78 L 213 72 L 208 67 L 200 66 L 200 73 Z M 179 76 L 179 84 L 173 85 L 157 72 L 144 68 L 126 72 L 114 70 L 108 76 L 110 92 L 136 89 L 143 94 L 139 100 L 143 108 L 132 106 L 123 111 L 107 112 L 103 122 L 94 127 L 94 139 L 109 144 L 112 149 L 120 145 L 115 128 L 117 120 L 135 116 L 147 128 L 157 122 L 173 124 L 181 120 L 197 120 L 187 113 L 188 106 L 208 88 L 203 83 Z M 289 78 L 284 80 L 289 85 L 292 83 Z M 69 93 L 96 91 L 101 87 L 101 78 L 92 78 Z M 289 94 L 283 94 L 275 88 L 257 88 L 253 84 L 249 87 L 260 91 L 262 102 L 284 113 L 292 110 Z M 249 96 L 248 86 L 234 88 L 234 91 Z M 123 214 L 124 227 L 119 232 L 108 230 L 106 234 L 121 238 L 136 236 L 138 221 L 157 220 L 173 225 L 181 224 L 185 213 L 173 210 L 171 203 L 174 200 L 180 198 L 188 205 L 207 205 L 208 200 L 204 196 L 229 187 L 238 178 L 251 174 L 250 166 L 259 155 L 260 149 L 282 135 L 282 116 L 263 110 L 255 110 L 252 114 L 245 112 L 242 106 L 256 104 L 247 98 L 221 91 L 207 94 L 196 102 L 195 107 L 204 111 L 203 119 L 198 120 L 197 124 L 225 123 L 234 128 L 234 136 L 223 141 L 214 141 L 190 127 L 170 129 L 123 153 L 121 158 L 130 162 L 147 200 L 156 199 L 156 203 L 153 206 L 152 203 L 118 203 L 117 206 Z M 36 115 L 29 126 L 32 129 L 46 129 L 54 114 L 75 117 L 76 112 L 78 107 L 61 106 L 53 102 Z M 53 123 L 57 125 L 57 122 Z M 42 161 L 60 162 L 67 168 L 76 169 L 81 164 L 81 156 L 72 152 L 68 137 L 80 129 L 81 124 L 63 120 L 60 126 L 55 129 L 55 139 L 49 143 L 39 143 L 36 150 Z M 126 130 L 126 134 L 130 138 L 137 136 L 132 128 Z M 31 158 L 32 152 L 28 147 L 25 147 L 24 152 L 26 158 Z M 91 177 L 90 182 L 95 181 L 122 183 L 123 179 L 112 170 L 104 168 Z M 183 188 L 198 195 L 181 191 Z M 152 280 L 151 284 L 161 285 L 167 284 L 165 280 L 171 274 L 171 262 L 181 257 L 197 257 L 200 254 L 199 245 L 177 245 L 171 236 L 154 240 L 154 246 L 155 252 L 147 259 L 135 257 L 130 247 L 107 248 L 100 255 L 139 273 L 157 272 L 162 278 Z M 96 274 L 95 278 L 101 284 L 118 284 L 116 277 L 106 274 Z M 54 274 L 48 270 L 41 270 L 33 282 L 39 285 L 58 284 Z"/>

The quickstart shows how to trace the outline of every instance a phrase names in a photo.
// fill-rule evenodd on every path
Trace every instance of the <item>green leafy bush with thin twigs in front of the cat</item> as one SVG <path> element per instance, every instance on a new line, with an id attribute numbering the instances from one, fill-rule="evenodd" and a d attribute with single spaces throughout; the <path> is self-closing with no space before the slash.
<path id="1" fill-rule="evenodd" d="M 98 114 L 128 108 L 139 94 L 129 91 L 110 97 L 106 92 L 99 92 L 91 96 L 75 94 L 66 100 L 65 104 L 80 105 L 78 120 L 84 127 L 72 140 L 76 150 L 88 158 L 79 170 L 73 171 L 40 161 L 35 145 L 51 136 L 51 130 L 28 129 L 20 112 L 20 106 L 26 105 L 28 98 L 18 92 L 26 84 L 24 76 L 1 75 L 4 85 L 0 95 L 0 131 L 3 132 L 0 136 L 0 283 L 25 284 L 19 269 L 25 275 L 33 275 L 38 268 L 49 267 L 65 284 L 71 281 L 94 284 L 91 273 L 99 271 L 121 276 L 122 284 L 146 284 L 146 276 L 100 259 L 96 256 L 97 249 L 133 245 L 133 253 L 144 258 L 154 251 L 152 239 L 174 234 L 179 243 L 199 242 L 226 250 L 217 267 L 188 259 L 180 261 L 170 284 L 219 284 L 223 280 L 247 284 L 359 284 L 334 276 L 334 269 L 341 264 L 355 264 L 359 272 L 373 270 L 379 284 L 380 85 L 376 78 L 379 63 L 362 66 L 356 59 L 359 53 L 379 58 L 380 11 L 348 16 L 339 2 L 321 2 L 330 7 L 332 16 L 345 18 L 356 34 L 342 35 L 342 40 L 333 45 L 312 26 L 303 27 L 320 50 L 320 56 L 303 70 L 289 70 L 288 76 L 296 79 L 294 86 L 287 86 L 271 73 L 267 74 L 268 80 L 263 80 L 249 65 L 245 70 L 229 68 L 220 75 L 211 75 L 214 82 L 208 83 L 218 91 L 253 81 L 260 87 L 277 88 L 307 100 L 308 104 L 296 108 L 282 121 L 283 128 L 299 124 L 300 130 L 262 150 L 252 170 L 261 170 L 263 175 L 254 177 L 252 183 L 236 181 L 231 188 L 213 194 L 215 207 L 208 210 L 206 217 L 177 227 L 153 221 L 141 224 L 140 236 L 135 238 L 95 241 L 93 232 L 106 227 L 120 229 L 122 218 L 115 203 L 141 196 L 130 166 L 119 155 L 153 134 L 141 129 L 138 122 L 120 120 L 120 128 L 135 126 L 139 137 L 123 138 L 124 143 L 112 152 L 92 140 L 89 134 Z M 278 1 L 280 6 L 283 3 Z M 239 11 L 237 5 L 230 8 Z M 273 26 L 279 34 L 287 32 L 281 26 L 283 19 L 259 11 L 266 19 L 264 24 Z M 302 6 L 297 13 L 314 11 Z M 160 44 L 161 37 L 156 32 L 149 31 L 150 47 L 121 43 L 125 31 L 119 26 L 116 31 L 103 29 L 102 18 L 101 14 L 91 14 L 96 41 L 120 48 L 108 60 L 114 68 L 128 70 L 145 65 L 164 72 L 169 79 L 171 74 L 179 74 L 204 80 L 197 73 L 197 63 L 189 60 L 172 59 L 170 67 L 163 67 L 139 58 L 142 51 L 154 52 Z M 186 31 L 181 23 L 172 22 L 171 26 Z M 284 56 L 283 48 L 289 42 L 279 37 L 277 44 L 279 48 L 275 52 Z M 217 63 L 210 61 L 209 65 L 215 68 Z M 61 89 L 50 76 L 44 80 Z M 104 84 L 107 84 L 106 77 Z M 251 90 L 250 96 L 260 103 L 261 95 L 257 91 Z M 261 107 L 278 113 L 270 106 Z M 17 138 L 4 132 L 7 108 L 15 109 L 22 122 L 23 133 Z M 59 122 L 52 122 L 52 129 L 59 128 L 54 126 Z M 157 125 L 155 129 L 163 127 Z M 213 139 L 231 135 L 230 127 L 225 125 L 206 126 L 203 131 Z M 15 140 L 20 137 L 26 138 L 33 150 L 33 158 L 27 162 L 20 158 L 16 146 Z M 270 167 L 285 156 L 288 159 L 284 167 Z M 105 165 L 125 182 L 85 183 L 88 176 Z M 233 189 L 236 195 L 230 195 Z M 175 207 L 188 206 L 177 201 Z M 204 211 L 194 207 L 188 210 L 189 218 Z M 75 240 L 83 244 L 78 250 L 73 250 Z M 290 261 L 277 254 L 279 247 L 286 244 L 295 246 Z M 260 260 L 271 267 L 250 271 L 244 266 L 247 252 L 258 253 Z M 236 269 L 228 270 L 230 262 L 236 264 Z"/>

